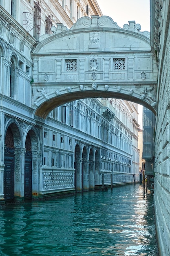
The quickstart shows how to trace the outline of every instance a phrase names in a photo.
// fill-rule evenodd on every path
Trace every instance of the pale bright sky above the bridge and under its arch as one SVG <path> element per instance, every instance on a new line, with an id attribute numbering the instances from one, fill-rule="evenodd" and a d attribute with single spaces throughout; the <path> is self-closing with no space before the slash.
<path id="1" fill-rule="evenodd" d="M 110 16 L 123 28 L 128 21 L 141 25 L 140 31 L 150 31 L 150 0 L 97 0 L 103 15 Z M 138 123 L 142 129 L 142 106 L 139 105 Z"/>

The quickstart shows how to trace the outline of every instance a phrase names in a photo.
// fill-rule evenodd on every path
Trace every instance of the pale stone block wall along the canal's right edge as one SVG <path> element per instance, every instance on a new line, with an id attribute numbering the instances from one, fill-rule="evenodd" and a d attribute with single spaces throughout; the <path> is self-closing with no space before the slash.
<path id="1" fill-rule="evenodd" d="M 159 100 L 155 137 L 154 200 L 161 256 L 170 255 L 170 31 L 165 45 L 165 55 L 161 56 L 159 61 Z M 161 47 L 163 48 L 163 44 Z"/>

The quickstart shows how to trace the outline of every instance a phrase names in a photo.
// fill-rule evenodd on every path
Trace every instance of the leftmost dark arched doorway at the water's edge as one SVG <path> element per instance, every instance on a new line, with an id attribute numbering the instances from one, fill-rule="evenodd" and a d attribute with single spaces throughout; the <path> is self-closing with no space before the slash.
<path id="1" fill-rule="evenodd" d="M 4 149 L 4 200 L 6 203 L 14 202 L 14 140 L 9 127 L 5 136 Z"/>

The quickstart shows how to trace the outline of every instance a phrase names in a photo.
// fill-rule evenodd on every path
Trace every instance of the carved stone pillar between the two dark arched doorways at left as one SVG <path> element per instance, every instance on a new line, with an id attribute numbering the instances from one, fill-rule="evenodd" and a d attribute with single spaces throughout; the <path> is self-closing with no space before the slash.
<path id="1" fill-rule="evenodd" d="M 15 201 L 24 200 L 25 148 L 15 148 L 14 196 Z"/>

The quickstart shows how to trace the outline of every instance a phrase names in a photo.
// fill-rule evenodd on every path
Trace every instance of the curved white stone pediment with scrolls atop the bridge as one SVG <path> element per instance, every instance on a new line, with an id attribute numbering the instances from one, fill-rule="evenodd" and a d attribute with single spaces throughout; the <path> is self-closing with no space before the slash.
<path id="1" fill-rule="evenodd" d="M 150 49 L 149 32 L 139 32 L 141 26 L 129 21 L 123 28 L 108 16 L 82 17 L 67 29 L 62 24 L 53 27 L 52 35 L 40 37 L 34 52 L 79 52 Z M 57 40 L 57 43 L 55 41 Z M 124 49 L 122 49 L 124 48 Z"/>

